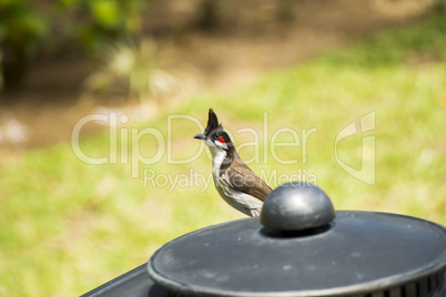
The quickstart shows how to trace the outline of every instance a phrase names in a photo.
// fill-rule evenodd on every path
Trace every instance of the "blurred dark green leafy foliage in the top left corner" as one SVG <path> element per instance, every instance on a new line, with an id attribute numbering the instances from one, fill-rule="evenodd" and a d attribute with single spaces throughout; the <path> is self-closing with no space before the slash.
<path id="1" fill-rule="evenodd" d="M 87 53 L 141 29 L 142 0 L 2 0 L 0 54 L 2 88 L 17 86 L 38 52 L 80 44 Z"/>

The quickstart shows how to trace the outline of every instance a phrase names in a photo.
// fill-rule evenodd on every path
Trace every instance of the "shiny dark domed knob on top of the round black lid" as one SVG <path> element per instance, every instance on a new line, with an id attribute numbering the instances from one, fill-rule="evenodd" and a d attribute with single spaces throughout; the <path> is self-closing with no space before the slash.
<path id="1" fill-rule="evenodd" d="M 306 182 L 292 182 L 275 188 L 263 204 L 260 222 L 278 231 L 323 227 L 335 217 L 328 196 Z"/>

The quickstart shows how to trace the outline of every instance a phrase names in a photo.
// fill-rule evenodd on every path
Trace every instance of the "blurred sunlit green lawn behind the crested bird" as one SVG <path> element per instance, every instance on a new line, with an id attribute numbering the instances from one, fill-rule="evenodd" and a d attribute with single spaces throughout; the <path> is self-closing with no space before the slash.
<path id="1" fill-rule="evenodd" d="M 191 115 L 205 124 L 213 107 L 236 145 L 254 141 L 239 129 L 260 132 L 259 162 L 250 164 L 254 172 L 268 177 L 273 172 L 285 177 L 304 172 L 301 177 L 315 177 L 337 209 L 392 212 L 446 224 L 445 31 L 444 14 L 432 14 L 408 28 L 268 73 L 234 93 L 200 94 L 139 129 L 155 127 L 166 140 L 169 115 Z M 334 157 L 337 133 L 371 112 L 376 112 L 376 130 L 367 134 L 376 137 L 372 186 L 344 172 Z M 123 127 L 130 131 L 133 125 L 130 119 Z M 307 139 L 306 153 L 302 145 L 276 148 L 278 157 L 297 158 L 297 164 L 281 164 L 270 150 L 272 135 L 285 126 L 300 136 L 303 129 L 317 130 Z M 199 132 L 192 121 L 172 121 L 172 157 L 197 152 L 200 142 L 192 136 Z M 88 155 L 107 156 L 109 141 L 108 133 L 82 137 L 81 147 Z M 292 139 L 284 133 L 277 141 Z M 133 143 L 135 147 L 148 157 L 161 150 L 150 135 Z M 339 144 L 339 156 L 359 166 L 359 148 L 361 135 L 351 137 Z M 70 144 L 2 161 L 0 295 L 80 295 L 148 260 L 170 239 L 244 217 L 224 204 L 213 183 L 209 188 L 202 183 L 144 186 L 144 170 L 153 171 L 161 184 L 168 176 L 189 176 L 191 168 L 205 177 L 211 173 L 204 153 L 187 164 L 170 164 L 166 146 L 162 150 L 163 157 L 141 164 L 135 178 L 120 157 L 118 164 L 89 165 Z M 255 150 L 244 147 L 240 154 L 250 160 Z M 280 184 L 271 178 L 272 187 Z"/>

